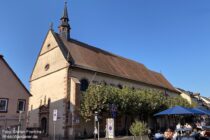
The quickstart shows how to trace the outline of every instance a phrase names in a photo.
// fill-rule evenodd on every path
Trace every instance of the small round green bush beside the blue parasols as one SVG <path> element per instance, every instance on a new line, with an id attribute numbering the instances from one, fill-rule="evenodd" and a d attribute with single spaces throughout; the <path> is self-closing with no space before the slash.
<path id="1" fill-rule="evenodd" d="M 133 135 L 134 140 L 143 140 L 142 137 L 148 133 L 147 124 L 137 120 L 135 120 L 135 122 L 130 126 L 129 130 Z"/>

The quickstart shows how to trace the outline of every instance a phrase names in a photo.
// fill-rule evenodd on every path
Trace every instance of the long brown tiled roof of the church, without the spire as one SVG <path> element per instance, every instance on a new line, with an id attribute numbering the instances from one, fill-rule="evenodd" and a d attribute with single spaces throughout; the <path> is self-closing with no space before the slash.
<path id="1" fill-rule="evenodd" d="M 65 57 L 70 56 L 70 63 L 74 67 L 121 77 L 178 93 L 162 74 L 149 70 L 141 63 L 74 39 L 67 41 L 55 32 L 54 36 L 63 50 L 67 51 L 64 53 Z"/>

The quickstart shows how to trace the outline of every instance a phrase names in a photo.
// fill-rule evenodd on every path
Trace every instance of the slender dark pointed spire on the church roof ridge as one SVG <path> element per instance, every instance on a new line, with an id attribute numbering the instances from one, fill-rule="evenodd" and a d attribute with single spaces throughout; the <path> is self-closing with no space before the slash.
<path id="1" fill-rule="evenodd" d="M 69 25 L 67 2 L 65 2 L 63 15 L 60 20 L 61 20 L 61 24 L 59 26 L 60 36 L 63 39 L 69 40 L 71 27 Z"/>

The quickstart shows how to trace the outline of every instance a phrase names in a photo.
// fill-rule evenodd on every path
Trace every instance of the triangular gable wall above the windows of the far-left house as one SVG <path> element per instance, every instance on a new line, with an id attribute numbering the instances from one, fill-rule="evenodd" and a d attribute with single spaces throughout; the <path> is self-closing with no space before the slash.
<path id="1" fill-rule="evenodd" d="M 28 98 L 31 95 L 3 58 L 0 58 L 0 93 L 2 97 Z"/>

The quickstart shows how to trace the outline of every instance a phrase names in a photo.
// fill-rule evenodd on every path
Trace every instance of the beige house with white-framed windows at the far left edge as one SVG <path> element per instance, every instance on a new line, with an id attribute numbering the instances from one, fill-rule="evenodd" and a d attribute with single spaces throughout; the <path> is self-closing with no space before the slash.
<path id="1" fill-rule="evenodd" d="M 30 93 L 0 55 L 0 132 L 18 126 L 19 112 L 22 113 L 22 129 L 26 128 Z"/>

